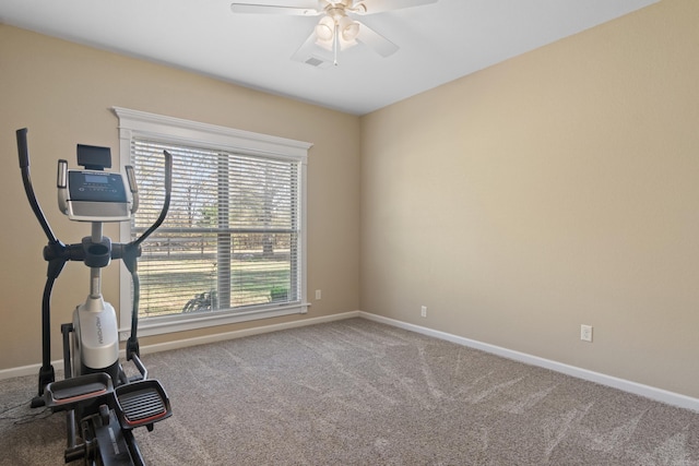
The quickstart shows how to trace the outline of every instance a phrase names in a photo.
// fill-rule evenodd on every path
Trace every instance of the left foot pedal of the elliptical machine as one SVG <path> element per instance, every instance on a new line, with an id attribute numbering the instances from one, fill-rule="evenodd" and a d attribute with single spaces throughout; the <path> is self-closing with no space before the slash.
<path id="1" fill-rule="evenodd" d="M 74 377 L 46 385 L 46 406 L 55 411 L 72 409 L 78 403 L 114 392 L 111 378 L 103 372 Z"/>

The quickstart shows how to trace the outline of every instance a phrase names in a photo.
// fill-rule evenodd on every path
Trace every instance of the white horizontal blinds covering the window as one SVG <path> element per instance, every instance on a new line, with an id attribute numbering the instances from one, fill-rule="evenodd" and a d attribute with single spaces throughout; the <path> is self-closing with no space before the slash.
<path id="1" fill-rule="evenodd" d="M 132 238 L 163 204 L 163 150 L 173 155 L 173 196 L 143 243 L 140 315 L 300 302 L 299 162 L 133 138 Z"/>

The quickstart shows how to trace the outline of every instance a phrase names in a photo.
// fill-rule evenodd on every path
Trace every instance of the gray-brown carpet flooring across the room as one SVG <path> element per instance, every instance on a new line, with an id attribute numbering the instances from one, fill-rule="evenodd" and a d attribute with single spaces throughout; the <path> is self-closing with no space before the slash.
<path id="1" fill-rule="evenodd" d="M 150 465 L 699 465 L 699 414 L 362 319 L 143 357 Z M 0 464 L 60 465 L 36 377 L 0 381 Z"/>

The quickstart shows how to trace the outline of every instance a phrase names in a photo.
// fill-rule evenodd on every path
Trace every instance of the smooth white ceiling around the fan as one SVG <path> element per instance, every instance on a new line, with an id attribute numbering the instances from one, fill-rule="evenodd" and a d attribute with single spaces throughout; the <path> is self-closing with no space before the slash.
<path id="1" fill-rule="evenodd" d="M 439 0 L 357 16 L 400 50 L 359 44 L 324 69 L 291 60 L 318 17 L 235 14 L 230 0 L 0 0 L 0 22 L 365 115 L 656 1 Z"/>

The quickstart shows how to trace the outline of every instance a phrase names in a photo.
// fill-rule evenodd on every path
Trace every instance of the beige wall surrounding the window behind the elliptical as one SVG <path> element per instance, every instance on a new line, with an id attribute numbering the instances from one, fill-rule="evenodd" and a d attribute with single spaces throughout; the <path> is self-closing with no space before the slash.
<path id="1" fill-rule="evenodd" d="M 305 316 L 358 309 L 359 119 L 337 111 L 245 89 L 221 81 L 0 25 L 0 370 L 40 362 L 40 302 L 46 238 L 24 199 L 15 130 L 29 129 L 32 178 L 58 237 L 78 242 L 90 234 L 57 208 L 56 163 L 75 166 L 75 144 L 112 147 L 112 106 L 203 121 L 313 144 L 308 162 L 308 296 Z M 107 235 L 118 239 L 115 228 Z M 118 304 L 118 266 L 104 278 Z M 88 270 L 69 263 L 54 295 L 54 358 L 60 358 L 60 323 L 87 294 Z M 313 290 L 322 289 L 315 301 Z M 142 344 L 260 325 L 228 325 L 146 338 Z"/>

